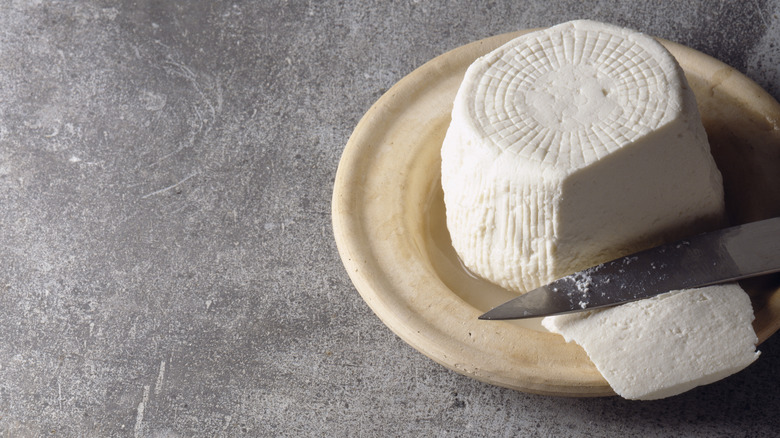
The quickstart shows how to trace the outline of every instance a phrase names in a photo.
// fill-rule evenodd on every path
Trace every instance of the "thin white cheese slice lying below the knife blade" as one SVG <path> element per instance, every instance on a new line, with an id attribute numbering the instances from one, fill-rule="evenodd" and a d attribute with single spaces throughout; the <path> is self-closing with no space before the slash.
<path id="1" fill-rule="evenodd" d="M 592 312 L 550 316 L 627 399 L 670 397 L 736 373 L 759 352 L 753 309 L 737 284 L 669 292 Z"/>

